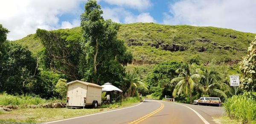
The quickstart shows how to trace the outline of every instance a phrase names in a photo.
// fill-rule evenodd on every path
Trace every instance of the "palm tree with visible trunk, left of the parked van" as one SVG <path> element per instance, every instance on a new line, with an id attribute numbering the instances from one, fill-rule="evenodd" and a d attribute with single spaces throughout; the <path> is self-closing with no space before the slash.
<path id="1" fill-rule="evenodd" d="M 171 84 L 177 82 L 172 96 L 184 92 L 186 95 L 189 94 L 190 104 L 192 104 L 192 89 L 198 84 L 200 74 L 195 73 L 196 71 L 193 71 L 192 65 L 188 63 L 181 65 L 175 72 L 179 73 L 179 76 L 171 80 Z"/>

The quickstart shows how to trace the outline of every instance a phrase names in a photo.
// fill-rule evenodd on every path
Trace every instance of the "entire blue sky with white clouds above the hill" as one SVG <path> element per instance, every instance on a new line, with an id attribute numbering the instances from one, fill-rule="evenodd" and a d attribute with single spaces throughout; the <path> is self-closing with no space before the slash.
<path id="1" fill-rule="evenodd" d="M 80 25 L 87 0 L 0 0 L 0 24 L 9 40 Z M 256 33 L 256 0 L 97 0 L 104 19 L 230 28 Z"/>

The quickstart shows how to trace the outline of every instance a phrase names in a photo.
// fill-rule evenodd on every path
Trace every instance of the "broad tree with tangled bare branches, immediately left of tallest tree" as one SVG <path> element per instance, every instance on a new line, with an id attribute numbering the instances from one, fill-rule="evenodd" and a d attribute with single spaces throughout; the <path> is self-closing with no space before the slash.
<path id="1" fill-rule="evenodd" d="M 45 67 L 64 73 L 70 79 L 80 79 L 79 56 L 81 54 L 80 32 L 76 30 L 46 31 L 37 29 L 36 38 L 44 45 L 40 60 Z M 44 57 L 45 56 L 45 57 Z"/>

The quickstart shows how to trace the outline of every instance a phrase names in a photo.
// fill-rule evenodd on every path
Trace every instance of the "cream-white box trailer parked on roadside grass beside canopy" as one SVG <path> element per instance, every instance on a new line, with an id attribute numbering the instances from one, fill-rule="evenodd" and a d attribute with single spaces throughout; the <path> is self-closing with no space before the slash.
<path id="1" fill-rule="evenodd" d="M 73 81 L 67 83 L 67 107 L 98 107 L 102 101 L 102 86 L 83 82 Z"/>

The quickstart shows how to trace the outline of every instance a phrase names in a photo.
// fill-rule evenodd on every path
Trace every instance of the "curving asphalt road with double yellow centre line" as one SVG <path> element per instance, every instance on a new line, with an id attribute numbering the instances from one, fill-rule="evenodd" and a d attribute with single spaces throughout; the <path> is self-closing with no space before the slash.
<path id="1" fill-rule="evenodd" d="M 145 99 L 141 104 L 44 124 L 215 124 L 222 107 L 199 106 Z"/>

